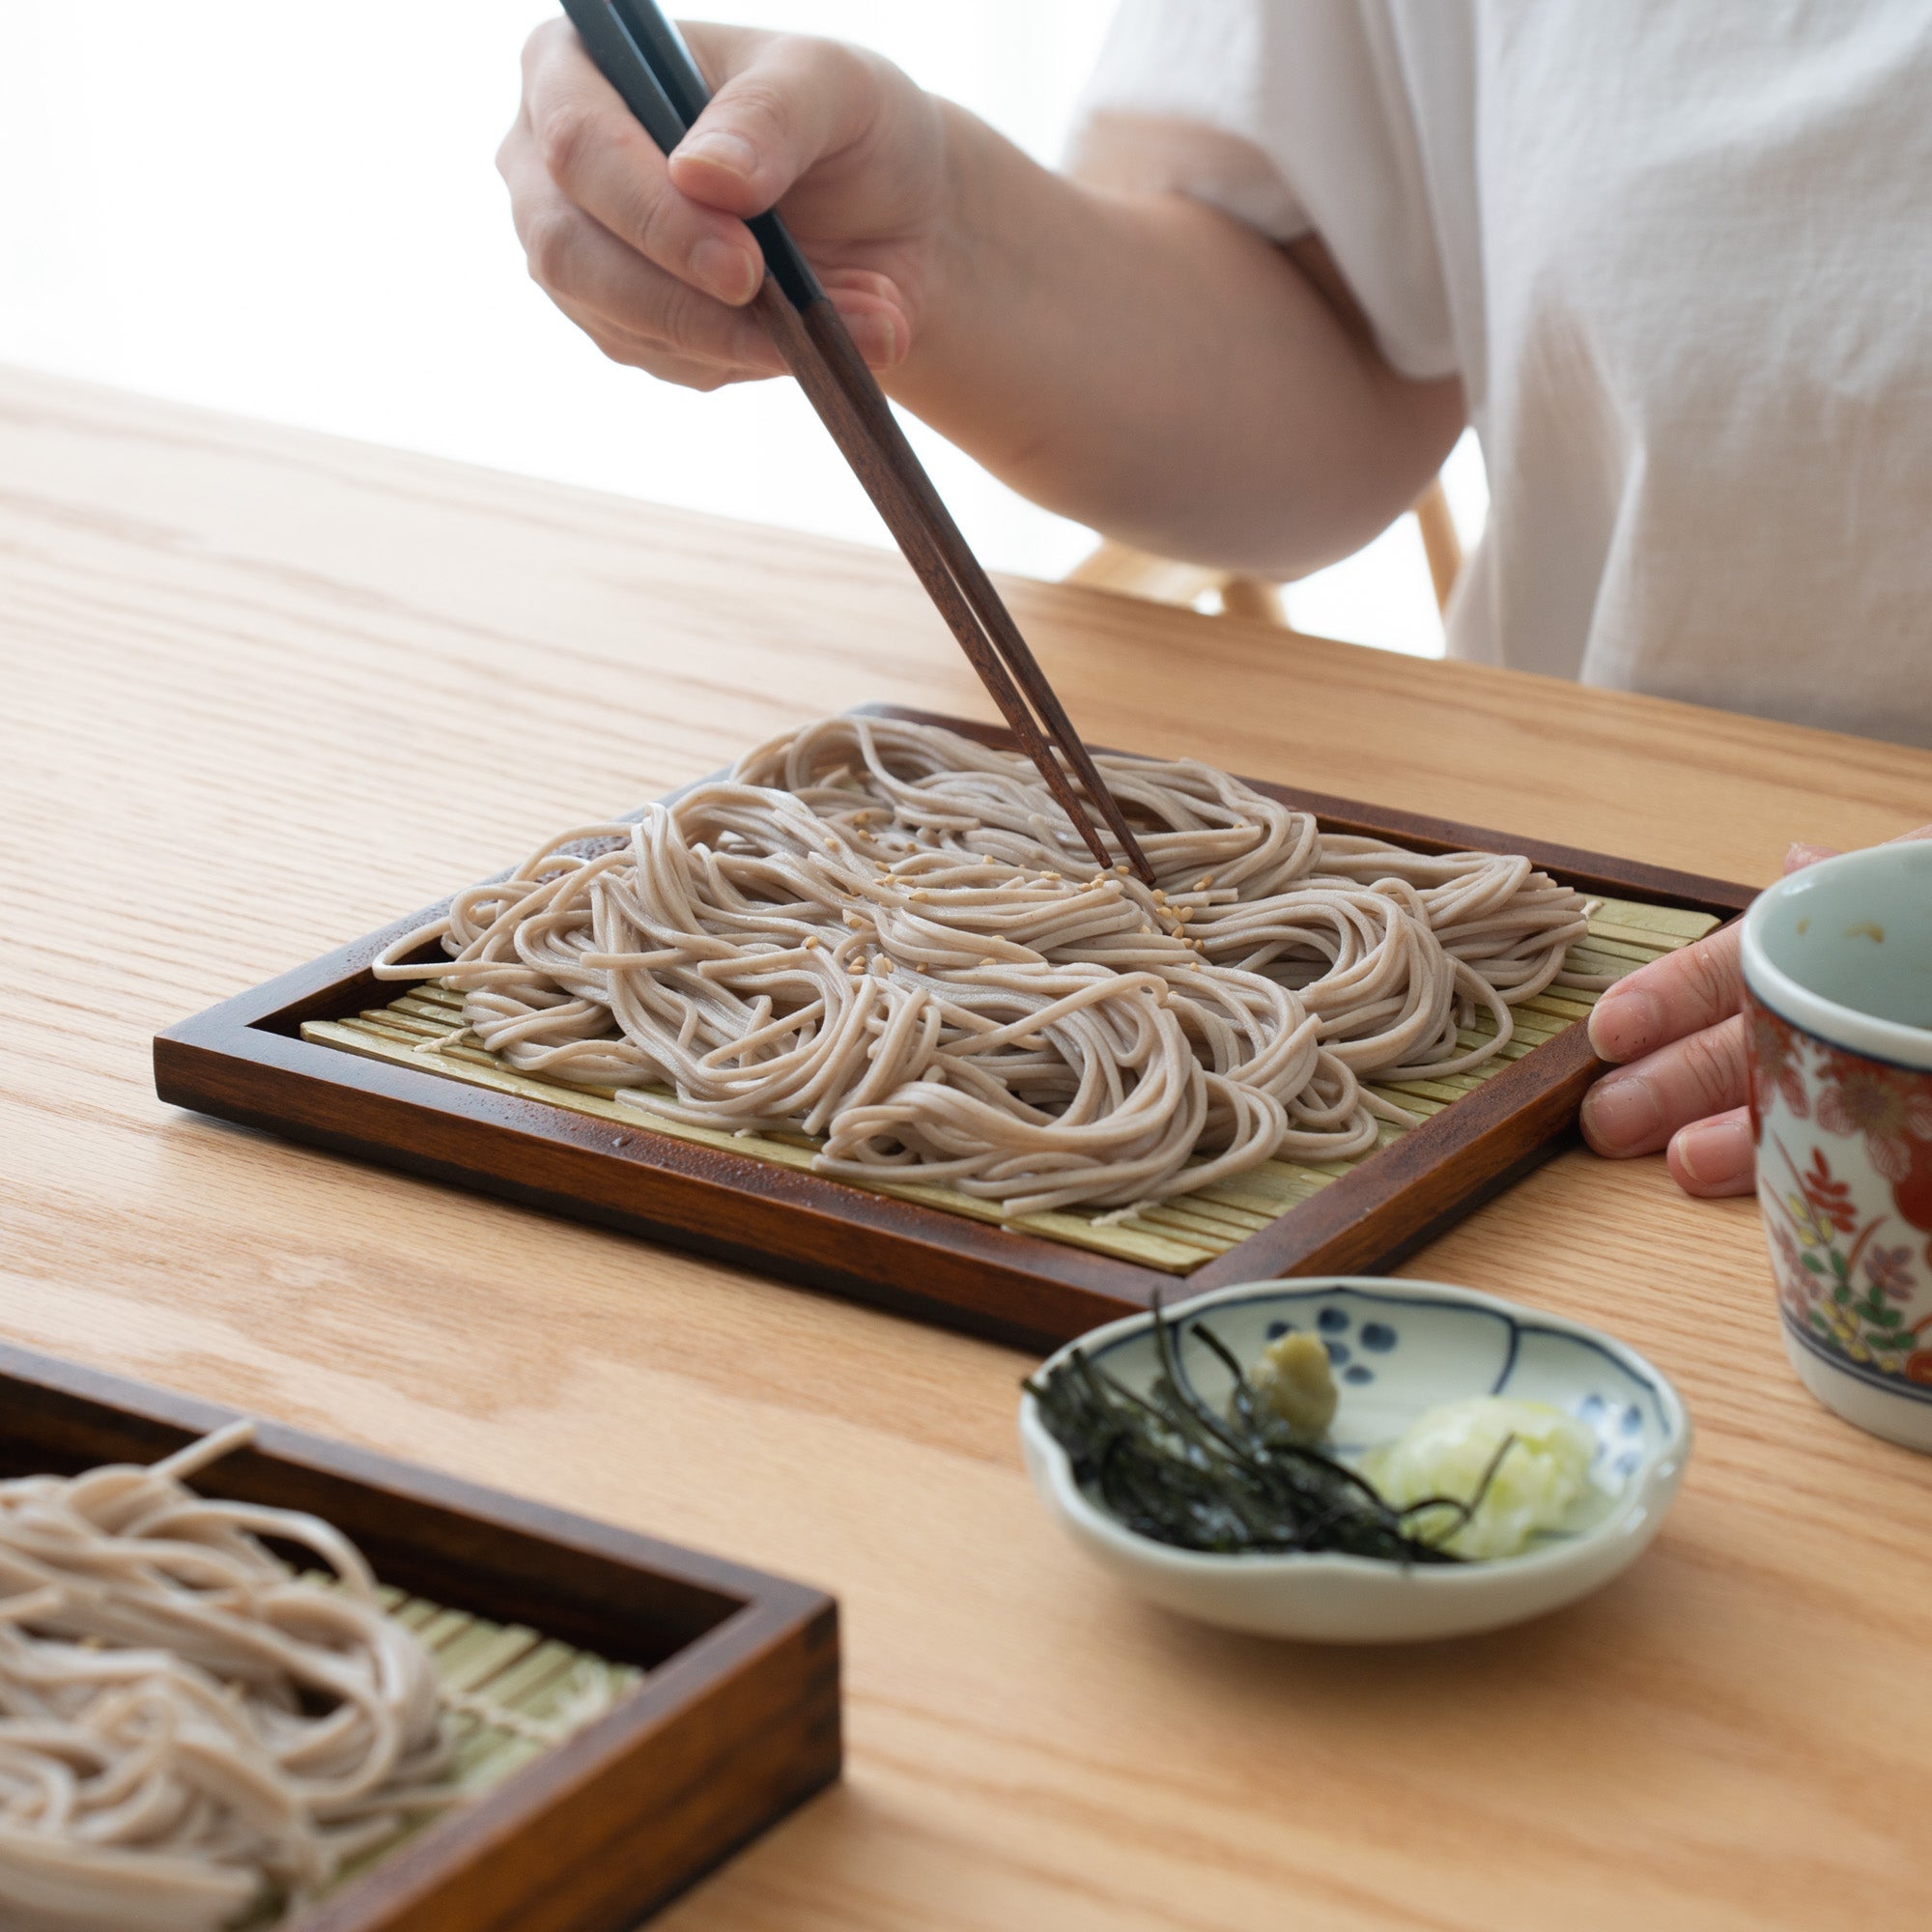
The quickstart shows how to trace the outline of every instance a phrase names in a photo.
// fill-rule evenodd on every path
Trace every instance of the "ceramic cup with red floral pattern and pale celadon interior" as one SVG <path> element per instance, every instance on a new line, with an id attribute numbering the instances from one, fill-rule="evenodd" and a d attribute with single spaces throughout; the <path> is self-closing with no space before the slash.
<path id="1" fill-rule="evenodd" d="M 1785 1352 L 1847 1422 L 1932 1449 L 1932 842 L 1791 873 L 1743 951 Z"/>

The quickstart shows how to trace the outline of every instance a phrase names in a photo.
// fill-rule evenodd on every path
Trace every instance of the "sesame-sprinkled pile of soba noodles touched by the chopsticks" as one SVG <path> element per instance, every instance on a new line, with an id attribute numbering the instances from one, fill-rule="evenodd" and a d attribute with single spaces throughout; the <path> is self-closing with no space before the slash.
<path id="1" fill-rule="evenodd" d="M 460 989 L 522 1072 L 1030 1213 L 1362 1153 L 1410 1121 L 1364 1080 L 1490 1059 L 1584 931 L 1524 858 L 1333 837 L 1194 761 L 1099 765 L 1157 889 L 1095 873 L 1024 757 L 842 717 L 560 835 L 375 970 Z M 431 939 L 448 962 L 412 962 Z"/>

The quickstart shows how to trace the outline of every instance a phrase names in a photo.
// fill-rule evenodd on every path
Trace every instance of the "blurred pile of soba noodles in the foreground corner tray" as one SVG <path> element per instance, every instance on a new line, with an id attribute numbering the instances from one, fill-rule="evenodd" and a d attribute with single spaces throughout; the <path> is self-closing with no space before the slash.
<path id="1" fill-rule="evenodd" d="M 309 1897 L 450 1799 L 429 1654 L 354 1546 L 182 1486 L 247 1432 L 153 1468 L 0 1484 L 8 1932 L 214 1932 Z"/>

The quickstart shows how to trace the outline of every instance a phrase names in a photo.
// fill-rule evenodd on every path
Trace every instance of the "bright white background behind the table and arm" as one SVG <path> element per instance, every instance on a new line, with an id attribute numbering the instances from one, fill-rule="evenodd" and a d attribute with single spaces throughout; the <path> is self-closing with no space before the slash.
<path id="1" fill-rule="evenodd" d="M 788 383 L 607 363 L 524 272 L 491 156 L 551 0 L 0 0 L 0 359 L 336 435 L 885 543 Z M 709 8 L 699 12 L 713 12 Z M 864 41 L 1041 158 L 1113 0 L 730 0 Z M 914 429 L 995 568 L 1090 531 Z M 1464 535 L 1480 458 L 1451 464 Z M 1410 520 L 1294 585 L 1306 630 L 1439 653 Z"/>

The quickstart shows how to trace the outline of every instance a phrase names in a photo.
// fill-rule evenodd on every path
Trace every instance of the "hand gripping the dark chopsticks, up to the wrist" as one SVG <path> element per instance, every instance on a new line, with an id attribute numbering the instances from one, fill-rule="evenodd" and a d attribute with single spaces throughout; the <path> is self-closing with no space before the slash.
<path id="1" fill-rule="evenodd" d="M 568 21 L 531 35 L 497 156 L 529 272 L 612 361 L 703 390 L 782 375 L 744 313 L 763 263 L 742 220 L 782 195 L 867 363 L 900 361 L 947 226 L 941 102 L 835 41 L 688 41 L 713 100 L 667 164 Z"/>

